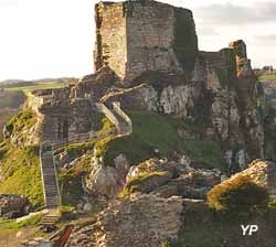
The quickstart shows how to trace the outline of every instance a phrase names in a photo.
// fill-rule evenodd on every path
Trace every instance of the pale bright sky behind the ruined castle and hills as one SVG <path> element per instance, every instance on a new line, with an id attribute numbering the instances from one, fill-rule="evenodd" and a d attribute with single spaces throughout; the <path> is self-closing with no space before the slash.
<path id="1" fill-rule="evenodd" d="M 275 0 L 159 0 L 191 9 L 201 51 L 243 39 L 276 67 Z M 0 0 L 0 80 L 92 74 L 96 0 Z"/>

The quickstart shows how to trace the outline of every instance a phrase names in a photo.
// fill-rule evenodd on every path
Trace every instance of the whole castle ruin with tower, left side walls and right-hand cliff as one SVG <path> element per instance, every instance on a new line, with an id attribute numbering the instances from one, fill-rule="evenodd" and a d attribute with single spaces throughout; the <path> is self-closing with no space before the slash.
<path id="1" fill-rule="evenodd" d="M 200 132 L 180 128 L 180 136 L 217 142 L 229 167 L 264 157 L 264 92 L 244 41 L 200 51 L 192 12 L 157 1 L 100 1 L 95 18 L 96 72 L 66 88 L 33 92 L 28 105 L 38 122 L 28 143 L 93 133 L 95 106 L 119 101 L 129 111 L 192 119 Z"/>

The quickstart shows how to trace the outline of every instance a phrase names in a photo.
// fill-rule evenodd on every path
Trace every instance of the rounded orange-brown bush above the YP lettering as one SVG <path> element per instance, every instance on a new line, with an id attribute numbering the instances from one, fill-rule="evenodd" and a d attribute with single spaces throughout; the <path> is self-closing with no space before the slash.
<path id="1" fill-rule="evenodd" d="M 211 208 L 235 215 L 254 213 L 266 207 L 267 202 L 266 189 L 242 175 L 214 186 L 208 193 Z"/>

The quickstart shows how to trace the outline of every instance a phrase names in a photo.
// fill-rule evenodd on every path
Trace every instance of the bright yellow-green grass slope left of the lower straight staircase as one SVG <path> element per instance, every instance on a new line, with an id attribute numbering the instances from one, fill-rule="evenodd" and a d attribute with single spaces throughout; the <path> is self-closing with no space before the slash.
<path id="1" fill-rule="evenodd" d="M 23 195 L 36 208 L 43 205 L 39 147 L 15 149 L 8 141 L 2 142 L 0 168 L 4 178 L 0 183 L 1 194 Z"/>

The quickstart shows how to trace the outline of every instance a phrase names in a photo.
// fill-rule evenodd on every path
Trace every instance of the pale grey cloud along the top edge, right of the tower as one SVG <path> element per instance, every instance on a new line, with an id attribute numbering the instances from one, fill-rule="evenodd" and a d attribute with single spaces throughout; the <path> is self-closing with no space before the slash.
<path id="1" fill-rule="evenodd" d="M 205 23 L 216 25 L 251 25 L 276 22 L 276 2 L 256 2 L 253 6 L 233 3 L 210 4 L 194 9 L 195 15 Z"/>

